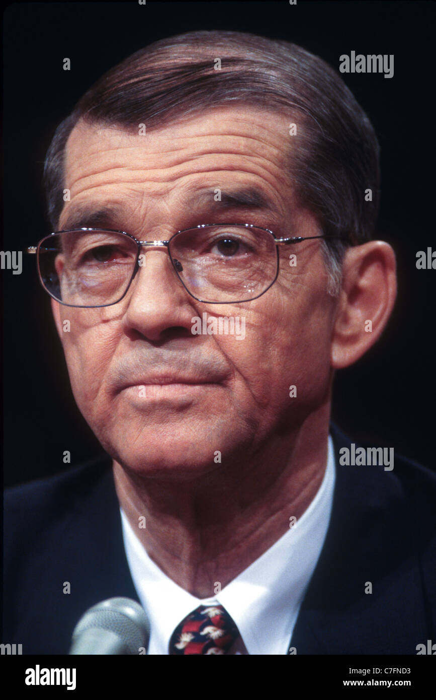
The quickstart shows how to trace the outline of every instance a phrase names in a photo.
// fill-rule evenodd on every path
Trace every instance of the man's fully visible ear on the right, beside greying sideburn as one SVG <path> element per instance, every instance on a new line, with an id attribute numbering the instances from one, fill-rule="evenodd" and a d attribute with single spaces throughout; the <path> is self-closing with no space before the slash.
<path id="1" fill-rule="evenodd" d="M 385 241 L 349 248 L 342 265 L 330 361 L 339 370 L 375 344 L 391 316 L 397 282 L 395 253 Z"/>

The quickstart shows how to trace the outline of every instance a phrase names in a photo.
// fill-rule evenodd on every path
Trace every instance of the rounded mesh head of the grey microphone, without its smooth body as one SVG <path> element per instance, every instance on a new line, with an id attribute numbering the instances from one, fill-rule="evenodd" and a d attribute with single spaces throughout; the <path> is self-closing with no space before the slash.
<path id="1" fill-rule="evenodd" d="M 92 605 L 80 617 L 73 631 L 73 646 L 78 643 L 80 636 L 91 630 L 115 634 L 126 647 L 127 654 L 138 654 L 140 647 L 147 647 L 150 622 L 145 610 L 136 601 L 130 598 L 109 598 Z"/>

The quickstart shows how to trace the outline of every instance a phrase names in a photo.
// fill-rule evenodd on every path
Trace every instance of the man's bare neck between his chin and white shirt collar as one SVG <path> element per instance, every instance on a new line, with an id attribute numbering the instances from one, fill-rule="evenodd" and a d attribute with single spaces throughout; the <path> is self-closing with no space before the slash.
<path id="1" fill-rule="evenodd" d="M 245 460 L 189 482 L 150 479 L 113 463 L 119 503 L 147 554 L 197 598 L 214 594 L 298 520 L 324 477 L 325 405 Z M 145 517 L 145 528 L 138 526 Z"/>

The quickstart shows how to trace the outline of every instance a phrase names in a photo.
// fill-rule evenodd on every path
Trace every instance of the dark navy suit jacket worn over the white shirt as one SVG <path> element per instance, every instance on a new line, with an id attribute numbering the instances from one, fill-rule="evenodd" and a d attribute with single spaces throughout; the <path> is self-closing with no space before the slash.
<path id="1" fill-rule="evenodd" d="M 398 457 L 393 471 L 341 466 L 350 441 L 332 435 L 332 517 L 290 645 L 297 654 L 416 654 L 436 642 L 436 475 Z M 138 601 L 109 458 L 10 489 L 4 533 L 2 641 L 23 654 L 67 654 L 91 605 Z"/>

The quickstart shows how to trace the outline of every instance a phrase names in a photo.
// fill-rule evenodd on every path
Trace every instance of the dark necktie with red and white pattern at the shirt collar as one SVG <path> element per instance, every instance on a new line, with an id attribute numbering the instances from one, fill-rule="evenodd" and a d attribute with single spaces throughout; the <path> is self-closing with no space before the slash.
<path id="1" fill-rule="evenodd" d="M 173 631 L 169 653 L 227 654 L 238 636 L 238 627 L 222 605 L 199 605 Z"/>

